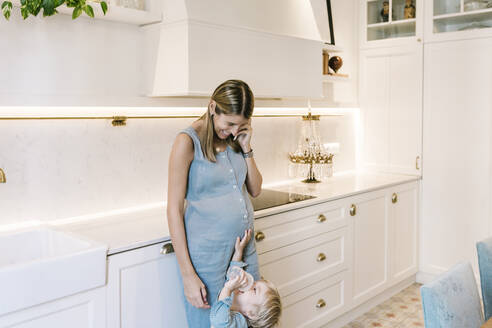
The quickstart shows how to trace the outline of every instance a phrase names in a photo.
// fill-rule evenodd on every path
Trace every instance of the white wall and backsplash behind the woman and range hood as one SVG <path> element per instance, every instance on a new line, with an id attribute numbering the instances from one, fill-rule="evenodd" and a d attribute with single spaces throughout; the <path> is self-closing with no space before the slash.
<path id="1" fill-rule="evenodd" d="M 332 1 L 337 42 L 346 43 L 347 70 L 356 83 L 357 2 Z M 336 12 L 338 9 L 338 13 Z M 349 17 L 349 19 L 347 19 Z M 23 21 L 14 8 L 0 19 L 0 106 L 205 107 L 207 99 L 149 99 L 140 95 L 139 28 L 59 15 Z M 354 47 L 352 47 L 352 45 Z M 354 53 L 352 53 L 354 51 Z M 344 58 L 345 59 L 345 58 Z M 320 55 L 321 65 L 321 55 Z M 352 82 L 346 99 L 357 95 Z M 340 105 L 336 88 L 316 107 Z M 261 107 L 306 106 L 305 99 L 258 100 Z M 19 109 L 20 110 L 20 109 Z M 1 107 L 0 107 L 1 111 Z M 54 220 L 165 201 L 167 160 L 176 133 L 191 119 L 0 120 L 0 225 Z M 299 118 L 255 118 L 253 148 L 265 182 L 287 178 L 287 153 L 297 143 Z M 355 168 L 355 115 L 322 117 L 325 142 L 340 142 L 335 171 Z M 265 142 L 267 141 L 267 142 Z M 272 145 L 275 145 L 274 147 Z"/>

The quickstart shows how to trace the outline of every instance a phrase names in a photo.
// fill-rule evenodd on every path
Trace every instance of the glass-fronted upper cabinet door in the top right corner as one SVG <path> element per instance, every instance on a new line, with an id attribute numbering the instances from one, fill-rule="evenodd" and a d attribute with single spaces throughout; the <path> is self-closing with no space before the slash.
<path id="1" fill-rule="evenodd" d="M 492 1 L 430 0 L 425 7 L 425 41 L 492 35 Z"/>

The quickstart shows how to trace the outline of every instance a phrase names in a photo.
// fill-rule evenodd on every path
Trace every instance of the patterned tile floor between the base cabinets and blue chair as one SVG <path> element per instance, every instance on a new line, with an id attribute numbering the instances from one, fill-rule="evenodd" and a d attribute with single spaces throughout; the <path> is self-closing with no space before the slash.
<path id="1" fill-rule="evenodd" d="M 424 327 L 420 284 L 413 284 L 343 328 Z"/>

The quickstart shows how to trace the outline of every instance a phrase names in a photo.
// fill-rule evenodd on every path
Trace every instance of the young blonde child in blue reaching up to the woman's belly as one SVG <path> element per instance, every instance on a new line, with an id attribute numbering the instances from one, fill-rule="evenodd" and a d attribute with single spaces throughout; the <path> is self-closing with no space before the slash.
<path id="1" fill-rule="evenodd" d="M 242 262 L 243 250 L 251 239 L 251 233 L 249 229 L 242 239 L 237 237 L 231 267 L 246 266 Z M 210 311 L 212 328 L 269 328 L 277 325 L 282 312 L 277 289 L 271 282 L 261 279 L 255 281 L 249 290 L 240 291 L 239 288 L 247 286 L 247 280 L 243 271 L 225 283 Z"/>

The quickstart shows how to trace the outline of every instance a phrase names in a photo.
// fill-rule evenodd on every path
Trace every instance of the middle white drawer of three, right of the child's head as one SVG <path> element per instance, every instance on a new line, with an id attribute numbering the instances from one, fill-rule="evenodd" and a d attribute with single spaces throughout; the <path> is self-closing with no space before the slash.
<path id="1" fill-rule="evenodd" d="M 261 275 L 287 296 L 348 268 L 348 228 L 340 228 L 259 255 Z"/>

